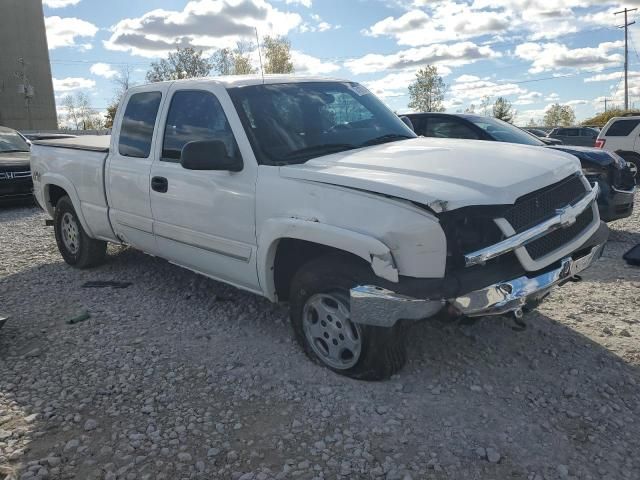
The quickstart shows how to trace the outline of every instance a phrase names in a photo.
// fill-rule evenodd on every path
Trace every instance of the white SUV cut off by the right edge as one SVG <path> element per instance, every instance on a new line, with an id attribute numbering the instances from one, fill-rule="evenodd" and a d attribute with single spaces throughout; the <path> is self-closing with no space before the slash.
<path id="1" fill-rule="evenodd" d="M 640 169 L 640 116 L 614 117 L 602 128 L 596 147 L 615 152 L 632 165 L 636 172 Z"/>

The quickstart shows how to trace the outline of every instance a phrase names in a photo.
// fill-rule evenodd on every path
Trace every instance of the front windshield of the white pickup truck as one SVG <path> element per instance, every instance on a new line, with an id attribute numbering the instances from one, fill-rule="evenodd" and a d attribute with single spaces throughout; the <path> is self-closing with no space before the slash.
<path id="1" fill-rule="evenodd" d="M 229 89 L 258 161 L 315 157 L 416 135 L 366 88 L 351 82 L 254 85 Z"/>

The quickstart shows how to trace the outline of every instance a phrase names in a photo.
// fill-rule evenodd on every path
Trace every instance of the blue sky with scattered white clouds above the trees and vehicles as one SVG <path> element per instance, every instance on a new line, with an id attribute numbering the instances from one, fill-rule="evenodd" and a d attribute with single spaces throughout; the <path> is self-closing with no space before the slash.
<path id="1" fill-rule="evenodd" d="M 104 110 L 128 65 L 144 81 L 175 45 L 213 52 L 260 35 L 286 35 L 300 75 L 364 83 L 408 111 L 407 86 L 427 65 L 449 88 L 448 111 L 507 97 L 517 122 L 568 103 L 578 119 L 620 105 L 623 31 L 607 0 L 44 0 L 56 97 L 89 93 Z M 630 14 L 634 20 L 638 12 Z M 630 103 L 640 108 L 640 35 L 630 27 Z M 636 51 L 638 48 L 638 51 Z M 478 108 L 477 108 L 478 110 Z"/>

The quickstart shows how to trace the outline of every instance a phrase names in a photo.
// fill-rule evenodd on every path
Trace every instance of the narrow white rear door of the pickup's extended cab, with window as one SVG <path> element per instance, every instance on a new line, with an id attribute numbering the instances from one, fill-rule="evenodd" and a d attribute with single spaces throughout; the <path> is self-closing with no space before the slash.
<path id="1" fill-rule="evenodd" d="M 159 111 L 167 85 L 136 89 L 124 99 L 114 124 L 105 183 L 109 218 L 125 243 L 156 252 L 149 199 L 151 164 L 158 136 Z M 124 111 L 122 111 L 124 110 Z"/>

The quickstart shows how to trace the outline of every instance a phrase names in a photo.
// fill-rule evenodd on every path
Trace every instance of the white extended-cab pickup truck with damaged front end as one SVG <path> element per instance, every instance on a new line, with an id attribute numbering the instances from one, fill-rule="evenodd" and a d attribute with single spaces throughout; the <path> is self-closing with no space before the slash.
<path id="1" fill-rule="evenodd" d="M 113 135 L 37 142 L 32 171 L 70 265 L 127 244 L 288 301 L 305 352 L 360 379 L 402 367 L 411 321 L 521 316 L 608 236 L 575 157 L 417 138 L 340 80 L 135 87 Z"/>

